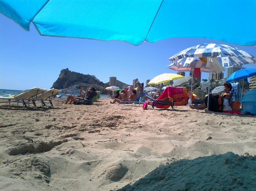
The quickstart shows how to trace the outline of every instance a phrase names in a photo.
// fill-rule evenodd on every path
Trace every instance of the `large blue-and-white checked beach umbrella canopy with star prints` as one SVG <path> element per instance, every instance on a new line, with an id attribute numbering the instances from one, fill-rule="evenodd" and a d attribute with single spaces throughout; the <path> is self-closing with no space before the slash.
<path id="1" fill-rule="evenodd" d="M 216 58 L 214 58 L 216 56 Z M 253 64 L 256 57 L 249 55 L 247 52 L 224 44 L 199 44 L 187 48 L 169 58 L 172 62 L 169 69 L 177 71 L 188 71 L 191 67 L 200 67 L 201 71 L 209 72 L 209 64 L 204 64 L 199 58 L 211 58 L 211 72 L 224 71 L 224 66 L 241 66 L 244 64 Z M 208 58 L 209 59 L 209 58 Z"/>

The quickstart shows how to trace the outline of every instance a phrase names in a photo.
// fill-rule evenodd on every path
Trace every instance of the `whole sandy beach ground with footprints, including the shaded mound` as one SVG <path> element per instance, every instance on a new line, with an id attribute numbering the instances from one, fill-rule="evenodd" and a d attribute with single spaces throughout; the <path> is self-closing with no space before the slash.
<path id="1" fill-rule="evenodd" d="M 256 116 L 64 102 L 0 107 L 1 190 L 256 190 Z"/>

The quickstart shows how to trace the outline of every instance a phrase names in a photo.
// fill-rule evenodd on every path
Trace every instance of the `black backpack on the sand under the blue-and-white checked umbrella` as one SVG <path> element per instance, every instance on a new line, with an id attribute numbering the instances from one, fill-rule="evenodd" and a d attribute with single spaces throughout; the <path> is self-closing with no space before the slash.
<path id="1" fill-rule="evenodd" d="M 214 112 L 223 112 L 224 98 L 219 95 L 208 95 L 209 96 L 209 110 Z M 204 104 L 207 107 L 208 96 L 205 98 Z"/>

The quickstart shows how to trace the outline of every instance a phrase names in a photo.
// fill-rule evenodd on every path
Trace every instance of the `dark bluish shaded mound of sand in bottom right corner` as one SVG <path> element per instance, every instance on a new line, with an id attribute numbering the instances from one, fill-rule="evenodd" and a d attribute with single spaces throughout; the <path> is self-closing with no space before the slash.
<path id="1" fill-rule="evenodd" d="M 256 156 L 228 152 L 179 160 L 156 168 L 118 191 L 244 191 L 256 190 Z"/>

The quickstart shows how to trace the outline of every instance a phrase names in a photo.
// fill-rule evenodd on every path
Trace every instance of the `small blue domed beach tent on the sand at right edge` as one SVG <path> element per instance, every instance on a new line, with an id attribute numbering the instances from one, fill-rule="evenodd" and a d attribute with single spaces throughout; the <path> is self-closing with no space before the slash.
<path id="1" fill-rule="evenodd" d="M 248 91 L 241 100 L 242 113 L 250 112 L 256 114 L 256 89 Z"/>

